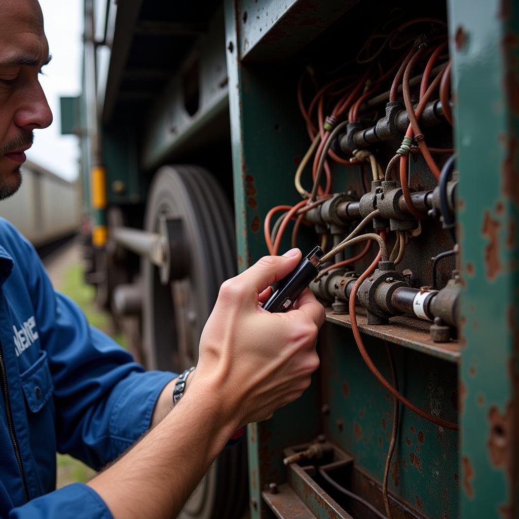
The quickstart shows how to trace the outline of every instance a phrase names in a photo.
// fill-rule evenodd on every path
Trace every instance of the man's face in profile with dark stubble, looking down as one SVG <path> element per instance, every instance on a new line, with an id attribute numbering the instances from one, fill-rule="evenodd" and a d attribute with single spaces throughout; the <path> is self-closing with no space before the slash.
<path id="1" fill-rule="evenodd" d="M 37 0 L 0 0 L 0 200 L 20 187 L 33 130 L 52 122 L 38 81 L 48 60 Z"/>

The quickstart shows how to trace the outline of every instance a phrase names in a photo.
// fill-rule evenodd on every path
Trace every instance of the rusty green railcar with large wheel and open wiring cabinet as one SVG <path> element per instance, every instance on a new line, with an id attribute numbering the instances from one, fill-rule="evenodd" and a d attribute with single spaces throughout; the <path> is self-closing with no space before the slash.
<path id="1" fill-rule="evenodd" d="M 148 366 L 195 363 L 269 251 L 378 240 L 312 284 L 309 390 L 183 517 L 518 516 L 517 3 L 85 0 L 85 28 L 89 276 Z"/>

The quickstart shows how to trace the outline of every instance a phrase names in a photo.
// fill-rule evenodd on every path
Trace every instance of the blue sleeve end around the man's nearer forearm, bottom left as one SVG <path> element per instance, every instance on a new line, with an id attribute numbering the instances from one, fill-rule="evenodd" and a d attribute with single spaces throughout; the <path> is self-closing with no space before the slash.
<path id="1" fill-rule="evenodd" d="M 9 519 L 113 519 L 99 494 L 84 483 L 74 483 L 13 508 Z"/>

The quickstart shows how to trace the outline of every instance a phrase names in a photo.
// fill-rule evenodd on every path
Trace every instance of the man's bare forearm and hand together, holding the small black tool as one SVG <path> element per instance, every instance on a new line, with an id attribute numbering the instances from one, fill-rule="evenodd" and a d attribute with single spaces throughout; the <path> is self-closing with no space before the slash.
<path id="1" fill-rule="evenodd" d="M 267 418 L 308 387 L 319 365 L 315 342 L 324 309 L 308 290 L 286 313 L 260 305 L 268 286 L 300 258 L 298 250 L 264 257 L 222 285 L 189 390 L 139 443 L 88 483 L 116 519 L 176 517 L 241 425 Z"/>

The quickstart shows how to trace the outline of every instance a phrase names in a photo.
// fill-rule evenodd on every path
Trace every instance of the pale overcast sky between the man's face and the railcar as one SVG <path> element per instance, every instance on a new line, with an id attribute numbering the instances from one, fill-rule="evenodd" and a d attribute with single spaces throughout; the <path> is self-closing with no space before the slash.
<path id="1" fill-rule="evenodd" d="M 65 177 L 78 175 L 79 145 L 75 135 L 61 135 L 60 96 L 79 95 L 81 90 L 81 40 L 83 0 L 39 0 L 52 61 L 44 67 L 40 82 L 54 115 L 52 125 L 35 130 L 27 157 Z"/>

